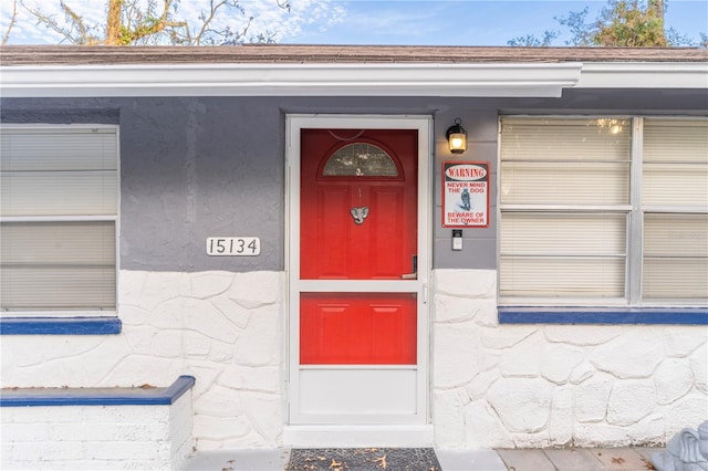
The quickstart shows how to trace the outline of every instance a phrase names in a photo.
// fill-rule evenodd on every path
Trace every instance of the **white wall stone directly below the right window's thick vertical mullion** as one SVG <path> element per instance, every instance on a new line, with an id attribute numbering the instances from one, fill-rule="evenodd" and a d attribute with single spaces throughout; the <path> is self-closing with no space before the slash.
<path id="1" fill-rule="evenodd" d="M 647 378 L 664 359 L 664 342 L 657 328 L 635 328 L 595 348 L 595 368 L 625 378 Z"/>

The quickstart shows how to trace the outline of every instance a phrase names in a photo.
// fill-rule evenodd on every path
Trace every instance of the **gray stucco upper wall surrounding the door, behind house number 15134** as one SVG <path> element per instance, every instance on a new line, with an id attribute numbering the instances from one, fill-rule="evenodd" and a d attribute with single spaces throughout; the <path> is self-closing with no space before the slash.
<path id="1" fill-rule="evenodd" d="M 164 97 L 6 98 L 3 123 L 121 126 L 121 268 L 155 271 L 284 269 L 284 116 L 288 113 L 420 114 L 434 117 L 434 266 L 497 265 L 499 114 L 705 115 L 704 91 L 569 90 L 561 98 Z M 465 229 L 451 250 L 441 227 L 445 132 L 468 130 L 460 160 L 491 163 L 490 227 Z M 211 258 L 212 236 L 257 236 L 259 257 Z"/>

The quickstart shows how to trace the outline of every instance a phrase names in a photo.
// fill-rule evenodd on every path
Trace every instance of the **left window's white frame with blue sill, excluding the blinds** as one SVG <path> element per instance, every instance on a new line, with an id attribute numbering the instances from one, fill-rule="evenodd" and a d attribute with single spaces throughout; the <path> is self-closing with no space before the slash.
<path id="1" fill-rule="evenodd" d="M 0 310 L 0 333 L 22 334 L 115 334 L 121 332 L 118 312 L 119 284 L 119 233 L 121 233 L 121 128 L 117 124 L 48 124 L 48 123 L 2 123 L 1 129 L 27 129 L 51 133 L 62 130 L 110 129 L 115 136 L 115 213 L 79 216 L 0 216 L 0 222 L 113 222 L 115 305 L 100 310 L 46 308 L 46 310 Z M 76 326 L 79 326 L 76 328 Z"/>

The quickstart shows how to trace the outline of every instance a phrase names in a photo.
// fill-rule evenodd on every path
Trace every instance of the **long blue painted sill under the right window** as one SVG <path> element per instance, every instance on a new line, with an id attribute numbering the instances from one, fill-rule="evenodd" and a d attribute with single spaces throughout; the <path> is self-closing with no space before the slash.
<path id="1" fill-rule="evenodd" d="M 708 307 L 498 307 L 499 324 L 708 325 Z"/>

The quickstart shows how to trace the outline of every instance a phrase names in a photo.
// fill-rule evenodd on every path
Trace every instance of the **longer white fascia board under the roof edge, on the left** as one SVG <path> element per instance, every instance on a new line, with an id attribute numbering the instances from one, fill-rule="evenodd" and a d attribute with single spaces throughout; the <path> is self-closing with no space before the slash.
<path id="1" fill-rule="evenodd" d="M 3 97 L 561 96 L 581 63 L 140 64 L 0 67 Z"/>

